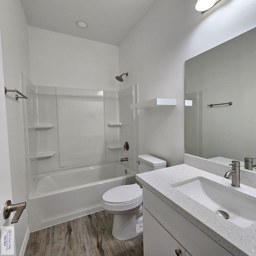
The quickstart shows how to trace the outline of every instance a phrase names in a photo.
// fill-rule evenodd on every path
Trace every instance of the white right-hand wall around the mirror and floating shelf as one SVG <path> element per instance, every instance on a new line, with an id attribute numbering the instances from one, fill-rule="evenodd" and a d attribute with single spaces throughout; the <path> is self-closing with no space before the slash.
<path id="1" fill-rule="evenodd" d="M 184 62 L 256 26 L 255 0 L 222 0 L 203 15 L 196 1 L 156 0 L 120 44 L 120 88 L 139 84 L 139 101 L 177 98 L 177 106 L 139 112 L 140 154 L 175 165 L 184 153 Z"/>

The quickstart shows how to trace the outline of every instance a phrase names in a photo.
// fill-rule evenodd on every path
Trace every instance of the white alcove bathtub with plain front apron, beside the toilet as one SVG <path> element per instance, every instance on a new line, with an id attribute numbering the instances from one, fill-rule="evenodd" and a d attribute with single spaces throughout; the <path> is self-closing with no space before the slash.
<path id="1" fill-rule="evenodd" d="M 133 184 L 136 172 L 120 162 L 39 175 L 28 197 L 31 232 L 102 210 L 102 195 Z"/>

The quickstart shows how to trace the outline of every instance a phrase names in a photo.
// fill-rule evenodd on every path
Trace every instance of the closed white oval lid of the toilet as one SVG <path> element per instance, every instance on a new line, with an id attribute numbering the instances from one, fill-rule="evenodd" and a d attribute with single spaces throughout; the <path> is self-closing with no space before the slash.
<path id="1" fill-rule="evenodd" d="M 111 188 L 102 196 L 106 202 L 118 204 L 134 201 L 142 197 L 142 188 L 138 184 L 122 185 Z"/>

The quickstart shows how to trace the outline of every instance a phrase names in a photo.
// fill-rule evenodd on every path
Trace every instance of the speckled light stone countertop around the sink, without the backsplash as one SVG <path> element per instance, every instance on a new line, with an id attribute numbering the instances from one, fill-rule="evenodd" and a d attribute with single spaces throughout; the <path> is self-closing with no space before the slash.
<path id="1" fill-rule="evenodd" d="M 217 182 L 256 201 L 256 188 L 244 184 L 234 188 L 231 178 L 228 180 L 187 164 L 137 174 L 136 180 L 234 256 L 256 256 L 256 223 L 248 228 L 236 226 L 173 187 L 196 177 Z"/>

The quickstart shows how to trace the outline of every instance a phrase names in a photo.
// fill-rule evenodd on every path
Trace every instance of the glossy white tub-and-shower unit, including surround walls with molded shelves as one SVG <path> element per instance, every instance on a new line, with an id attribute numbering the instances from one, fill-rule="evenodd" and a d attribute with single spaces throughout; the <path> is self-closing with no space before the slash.
<path id="1" fill-rule="evenodd" d="M 136 182 L 137 84 L 115 92 L 21 78 L 32 232 L 100 211 L 107 190 Z M 129 161 L 120 165 L 121 157 Z"/>

